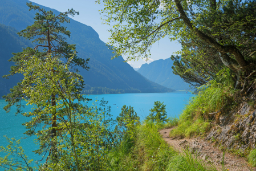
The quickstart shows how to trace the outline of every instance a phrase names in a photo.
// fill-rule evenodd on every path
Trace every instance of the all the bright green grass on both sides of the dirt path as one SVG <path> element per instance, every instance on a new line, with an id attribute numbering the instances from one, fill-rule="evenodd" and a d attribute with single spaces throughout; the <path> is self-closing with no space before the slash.
<path id="1" fill-rule="evenodd" d="M 228 69 L 222 70 L 218 78 L 201 87 L 179 118 L 170 118 L 166 124 L 139 125 L 134 139 L 126 136 L 123 142 L 108 154 L 111 161 L 109 170 L 220 170 L 213 164 L 206 164 L 189 151 L 177 152 L 162 140 L 158 131 L 176 127 L 170 132 L 171 137 L 204 137 L 212 127 L 212 121 L 218 121 L 220 114 L 230 111 L 234 105 L 234 82 L 229 79 L 230 73 Z M 213 113 L 220 109 L 220 112 Z M 251 155 L 255 155 L 255 158 L 256 151 L 254 153 Z M 224 164 L 221 170 L 227 170 Z"/>

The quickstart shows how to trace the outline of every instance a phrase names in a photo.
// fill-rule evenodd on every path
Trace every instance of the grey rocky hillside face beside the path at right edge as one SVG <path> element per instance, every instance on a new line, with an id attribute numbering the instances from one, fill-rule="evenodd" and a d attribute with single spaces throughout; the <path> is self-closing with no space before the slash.
<path id="1" fill-rule="evenodd" d="M 218 125 L 212 128 L 206 140 L 217 140 L 226 148 L 241 150 L 255 149 L 256 108 L 255 97 L 251 96 L 234 111 L 221 115 Z"/>

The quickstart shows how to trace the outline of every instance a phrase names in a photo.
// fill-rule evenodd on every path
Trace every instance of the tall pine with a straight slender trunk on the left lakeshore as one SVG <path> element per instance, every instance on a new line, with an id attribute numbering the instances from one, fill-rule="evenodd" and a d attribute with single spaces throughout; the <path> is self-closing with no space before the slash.
<path id="1" fill-rule="evenodd" d="M 56 139 L 61 136 L 61 133 L 58 133 L 58 130 L 61 130 L 59 125 L 63 123 L 64 116 L 71 115 L 68 114 L 68 109 L 73 111 L 75 107 L 79 107 L 72 101 L 87 100 L 79 94 L 84 82 L 82 77 L 76 74 L 78 69 L 75 66 L 88 70 L 88 59 L 78 58 L 75 45 L 66 42 L 65 36 L 69 37 L 70 31 L 61 25 L 70 22 L 68 15 L 74 16 L 79 14 L 78 12 L 71 9 L 55 15 L 52 11 L 32 5 L 31 2 L 27 3 L 27 6 L 30 10 L 38 10 L 39 13 L 36 13 L 34 24 L 18 34 L 38 44 L 34 48 L 23 49 L 10 59 L 15 66 L 11 67 L 10 74 L 5 77 L 22 73 L 24 79 L 11 89 L 9 95 L 3 96 L 8 102 L 5 110 L 9 112 L 10 107 L 16 105 L 17 113 L 31 117 L 31 121 L 24 125 L 28 129 L 26 135 L 38 137 L 40 149 L 36 150 L 36 153 L 46 154 L 50 150 L 48 156 L 51 156 L 52 162 L 57 162 Z M 63 100 L 66 99 L 70 101 L 64 106 Z M 22 100 L 34 106 L 32 112 L 22 112 Z M 40 125 L 43 127 L 38 130 Z"/>

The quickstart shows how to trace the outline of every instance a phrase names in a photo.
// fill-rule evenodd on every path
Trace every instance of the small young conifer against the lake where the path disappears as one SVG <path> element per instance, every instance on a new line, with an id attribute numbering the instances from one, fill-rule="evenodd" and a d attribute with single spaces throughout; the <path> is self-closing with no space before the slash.
<path id="1" fill-rule="evenodd" d="M 165 111 L 166 105 L 164 105 L 164 102 L 161 103 L 161 101 L 155 101 L 154 107 L 150 109 L 151 113 L 146 117 L 147 121 L 167 121 L 166 117 L 166 111 Z"/>

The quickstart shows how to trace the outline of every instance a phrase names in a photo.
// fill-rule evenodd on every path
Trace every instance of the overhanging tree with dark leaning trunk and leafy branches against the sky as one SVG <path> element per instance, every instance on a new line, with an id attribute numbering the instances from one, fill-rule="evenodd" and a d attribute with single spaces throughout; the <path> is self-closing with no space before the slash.
<path id="1" fill-rule="evenodd" d="M 229 68 L 236 75 L 235 88 L 239 88 L 240 85 L 242 86 L 241 78 L 246 78 L 255 69 L 255 43 L 253 43 L 256 37 L 256 13 L 253 10 L 256 6 L 255 1 L 98 0 L 97 2 L 103 2 L 105 5 L 101 10 L 101 13 L 105 14 L 104 23 L 113 25 L 109 30 L 111 32 L 109 48 L 114 50 L 115 56 L 125 54 L 128 56 L 127 60 L 148 58 L 151 45 L 168 36 L 170 40 L 180 40 L 183 43 L 181 58 L 185 58 L 184 62 L 198 68 L 196 72 L 200 72 L 199 78 L 201 76 L 204 78 L 206 72 L 208 72 L 206 75 L 216 74 L 211 71 L 201 73 L 210 68 L 204 69 L 205 61 L 210 66 L 218 63 L 218 67 L 212 71 L 220 71 L 222 66 Z M 199 48 L 194 51 L 190 48 L 192 44 L 189 45 L 188 42 L 197 44 L 195 47 Z M 213 51 L 214 54 L 208 54 L 204 58 L 202 50 Z M 188 60 L 191 55 L 185 57 L 189 51 L 196 52 L 191 60 Z M 200 64 L 203 64 L 201 68 Z M 176 67 L 179 67 L 179 64 Z M 191 72 L 191 74 L 196 73 Z M 206 79 L 202 79 L 201 83 Z"/>

